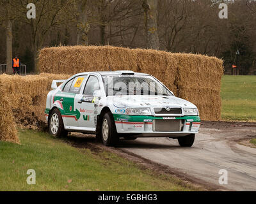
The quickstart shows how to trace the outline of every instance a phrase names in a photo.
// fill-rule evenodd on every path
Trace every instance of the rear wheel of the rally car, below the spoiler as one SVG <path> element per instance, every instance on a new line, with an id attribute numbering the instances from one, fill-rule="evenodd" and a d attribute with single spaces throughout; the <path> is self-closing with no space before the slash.
<path id="1" fill-rule="evenodd" d="M 52 136 L 55 136 L 58 138 L 65 137 L 68 135 L 68 131 L 66 131 L 64 128 L 64 123 L 61 117 L 61 113 L 57 108 L 52 110 L 51 114 L 49 115 L 48 129 L 49 129 L 49 133 Z"/>

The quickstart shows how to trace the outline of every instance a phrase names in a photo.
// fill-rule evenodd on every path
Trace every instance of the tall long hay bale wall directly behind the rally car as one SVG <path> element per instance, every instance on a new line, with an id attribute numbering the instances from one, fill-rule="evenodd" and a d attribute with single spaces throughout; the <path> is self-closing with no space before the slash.
<path id="1" fill-rule="evenodd" d="M 176 96 L 198 106 L 203 120 L 220 120 L 223 61 L 216 57 L 120 47 L 52 47 L 39 55 L 45 73 L 132 70 L 158 78 Z"/>

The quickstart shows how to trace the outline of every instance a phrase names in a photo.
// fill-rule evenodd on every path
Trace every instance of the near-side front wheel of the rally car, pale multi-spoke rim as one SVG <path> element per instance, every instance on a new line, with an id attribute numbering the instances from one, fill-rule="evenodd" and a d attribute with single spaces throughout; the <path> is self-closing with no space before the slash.
<path id="1" fill-rule="evenodd" d="M 105 113 L 100 126 L 100 135 L 103 145 L 114 146 L 118 143 L 118 134 L 116 133 L 116 126 L 111 113 Z"/>

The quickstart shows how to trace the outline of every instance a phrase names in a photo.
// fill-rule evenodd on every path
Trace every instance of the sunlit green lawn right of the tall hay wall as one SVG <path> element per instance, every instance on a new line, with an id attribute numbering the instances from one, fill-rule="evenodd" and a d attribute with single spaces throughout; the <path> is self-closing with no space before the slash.
<path id="1" fill-rule="evenodd" d="M 256 121 L 256 76 L 228 76 L 221 85 L 223 120 Z"/>

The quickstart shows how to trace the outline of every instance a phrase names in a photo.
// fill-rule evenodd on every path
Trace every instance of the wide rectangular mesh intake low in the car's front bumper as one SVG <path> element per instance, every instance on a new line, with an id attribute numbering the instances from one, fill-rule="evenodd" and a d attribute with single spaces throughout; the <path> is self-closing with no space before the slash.
<path id="1" fill-rule="evenodd" d="M 180 132 L 183 128 L 182 120 L 154 120 L 153 131 Z"/>

